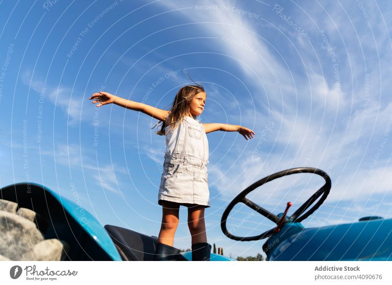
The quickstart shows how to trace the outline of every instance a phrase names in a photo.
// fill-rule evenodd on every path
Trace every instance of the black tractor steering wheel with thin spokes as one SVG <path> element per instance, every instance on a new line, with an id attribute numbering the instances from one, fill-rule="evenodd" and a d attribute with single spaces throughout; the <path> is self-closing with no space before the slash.
<path id="1" fill-rule="evenodd" d="M 297 211 L 295 211 L 294 214 L 292 214 L 290 217 L 286 218 L 285 221 L 291 221 L 291 222 L 301 222 L 302 220 L 306 219 L 309 215 L 313 214 L 320 205 L 324 202 L 325 198 L 329 194 L 329 190 L 331 190 L 331 179 L 329 178 L 328 174 L 325 173 L 324 171 L 318 169 L 318 168 L 313 168 L 313 167 L 297 167 L 297 168 L 291 168 L 287 170 L 283 170 L 274 174 L 271 174 L 270 176 L 264 177 L 263 179 L 260 179 L 259 181 L 253 183 L 250 185 L 248 188 L 246 188 L 244 191 L 242 191 L 240 194 L 238 194 L 233 201 L 230 202 L 230 204 L 227 206 L 227 208 L 224 210 L 222 219 L 221 219 L 221 229 L 222 232 L 229 238 L 234 239 L 234 240 L 241 240 L 241 241 L 250 241 L 250 240 L 259 240 L 263 239 L 266 237 L 270 237 L 276 228 L 270 229 L 269 231 L 266 231 L 262 233 L 261 235 L 258 236 L 253 236 L 253 237 L 237 237 L 232 234 L 230 234 L 226 228 L 226 221 L 227 217 L 230 213 L 230 211 L 234 208 L 234 206 L 237 203 L 244 203 L 246 206 L 250 207 L 251 209 L 255 210 L 257 213 L 262 214 L 266 218 L 270 219 L 274 223 L 278 224 L 280 221 L 280 217 L 278 217 L 275 214 L 270 213 L 266 209 L 260 207 L 256 203 L 253 203 L 249 199 L 245 198 L 245 196 L 255 190 L 257 187 L 262 186 L 263 184 L 270 182 L 276 178 L 280 178 L 286 175 L 291 175 L 291 174 L 297 174 L 297 173 L 314 173 L 317 175 L 320 175 L 322 178 L 325 180 L 325 184 L 317 190 L 301 207 L 298 208 Z M 319 201 L 306 213 L 304 213 L 318 198 L 320 197 Z"/>

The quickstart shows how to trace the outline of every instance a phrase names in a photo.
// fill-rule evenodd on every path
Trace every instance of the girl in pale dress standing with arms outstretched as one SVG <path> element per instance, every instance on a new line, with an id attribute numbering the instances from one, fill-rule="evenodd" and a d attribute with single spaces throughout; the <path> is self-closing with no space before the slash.
<path id="1" fill-rule="evenodd" d="M 143 112 L 159 121 L 158 135 L 166 137 L 165 161 L 158 193 L 162 206 L 162 224 L 154 260 L 181 260 L 174 248 L 174 234 L 178 225 L 180 205 L 188 208 L 188 227 L 192 235 L 192 260 L 208 261 L 211 245 L 207 243 L 204 209 L 210 207 L 207 164 L 207 133 L 237 131 L 247 138 L 255 134 L 251 129 L 221 123 L 201 123 L 196 119 L 204 111 L 206 93 L 201 85 L 187 85 L 178 91 L 171 110 L 161 110 L 147 104 L 120 98 L 107 92 L 92 95 L 96 106 L 114 103 L 127 109 Z"/>

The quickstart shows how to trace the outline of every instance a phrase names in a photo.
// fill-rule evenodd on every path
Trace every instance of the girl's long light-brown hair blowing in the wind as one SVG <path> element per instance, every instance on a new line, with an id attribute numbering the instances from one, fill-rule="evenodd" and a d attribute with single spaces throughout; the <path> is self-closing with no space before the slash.
<path id="1" fill-rule="evenodd" d="M 195 82 L 196 83 L 196 82 Z M 167 121 L 169 130 L 175 127 L 177 123 L 182 121 L 184 116 L 188 116 L 189 108 L 192 98 L 201 92 L 205 92 L 203 86 L 196 83 L 196 85 L 186 85 L 178 90 L 170 108 L 170 116 Z M 155 126 L 154 126 L 155 127 Z M 154 128 L 153 127 L 153 128 Z M 157 135 L 164 136 L 166 129 L 166 122 L 162 122 L 161 129 L 156 132 Z"/>

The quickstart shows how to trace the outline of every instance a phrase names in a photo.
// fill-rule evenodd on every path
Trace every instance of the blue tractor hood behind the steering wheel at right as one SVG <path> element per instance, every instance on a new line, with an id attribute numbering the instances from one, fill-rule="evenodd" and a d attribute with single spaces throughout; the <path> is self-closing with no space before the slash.
<path id="1" fill-rule="evenodd" d="M 392 219 L 305 229 L 286 223 L 263 245 L 270 261 L 391 261 Z"/>

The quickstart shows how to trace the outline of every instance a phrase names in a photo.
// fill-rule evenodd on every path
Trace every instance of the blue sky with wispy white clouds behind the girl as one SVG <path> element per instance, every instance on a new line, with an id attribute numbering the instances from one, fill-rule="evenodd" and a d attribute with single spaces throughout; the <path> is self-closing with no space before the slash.
<path id="1" fill-rule="evenodd" d="M 102 225 L 157 236 L 165 140 L 150 129 L 156 120 L 88 97 L 103 90 L 167 109 L 190 83 L 186 69 L 206 89 L 199 120 L 256 133 L 207 135 L 207 237 L 225 255 L 262 252 L 264 241 L 225 237 L 221 215 L 287 168 L 332 179 L 306 227 L 392 216 L 391 1 L 49 2 L 0 2 L 1 187 L 43 184 Z M 275 214 L 292 201 L 293 213 L 320 182 L 289 176 L 248 198 Z M 250 213 L 236 206 L 228 228 L 254 236 L 274 226 Z M 181 208 L 178 248 L 191 244 L 186 221 Z"/>

